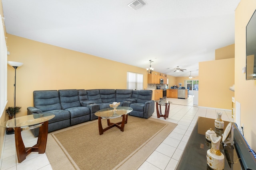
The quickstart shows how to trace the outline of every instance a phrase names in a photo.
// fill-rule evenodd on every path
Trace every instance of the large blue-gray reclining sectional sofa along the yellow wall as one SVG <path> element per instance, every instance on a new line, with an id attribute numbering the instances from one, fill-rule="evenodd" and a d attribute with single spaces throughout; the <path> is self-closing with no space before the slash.
<path id="1" fill-rule="evenodd" d="M 154 113 L 151 90 L 94 89 L 94 90 L 38 90 L 33 92 L 34 107 L 28 107 L 28 115 L 52 113 L 48 132 L 97 119 L 94 113 L 110 107 L 113 102 L 119 106 L 132 107 L 129 115 L 148 118 Z M 39 128 L 31 129 L 38 136 Z"/>

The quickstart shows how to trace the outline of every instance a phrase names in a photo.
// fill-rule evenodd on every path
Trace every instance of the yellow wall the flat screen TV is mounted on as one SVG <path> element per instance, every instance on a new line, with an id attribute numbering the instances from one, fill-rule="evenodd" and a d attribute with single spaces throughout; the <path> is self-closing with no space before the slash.
<path id="1" fill-rule="evenodd" d="M 241 104 L 241 125 L 250 147 L 256 150 L 256 81 L 246 80 L 246 25 L 256 10 L 255 0 L 241 0 L 235 11 L 235 100 Z M 236 111 L 235 111 L 236 113 Z"/>

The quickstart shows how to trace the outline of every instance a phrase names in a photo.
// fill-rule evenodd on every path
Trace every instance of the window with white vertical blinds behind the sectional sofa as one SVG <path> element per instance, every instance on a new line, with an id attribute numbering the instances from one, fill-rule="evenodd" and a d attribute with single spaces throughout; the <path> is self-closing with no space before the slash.
<path id="1" fill-rule="evenodd" d="M 135 72 L 127 72 L 127 89 L 142 90 L 143 74 L 138 74 Z"/>

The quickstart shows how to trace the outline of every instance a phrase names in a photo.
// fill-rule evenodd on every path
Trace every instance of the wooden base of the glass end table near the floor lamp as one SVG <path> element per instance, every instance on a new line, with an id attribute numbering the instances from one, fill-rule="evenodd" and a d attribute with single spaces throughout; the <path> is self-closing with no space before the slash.
<path id="1" fill-rule="evenodd" d="M 14 134 L 15 146 L 16 146 L 17 158 L 19 163 L 25 160 L 26 156 L 31 152 L 38 152 L 39 154 L 42 154 L 45 152 L 47 135 L 48 135 L 48 121 L 45 121 L 44 123 L 42 123 L 42 126 L 39 127 L 37 144 L 34 145 L 33 147 L 25 148 L 25 145 L 21 137 L 20 127 L 15 127 L 14 131 L 15 131 L 15 134 Z"/>

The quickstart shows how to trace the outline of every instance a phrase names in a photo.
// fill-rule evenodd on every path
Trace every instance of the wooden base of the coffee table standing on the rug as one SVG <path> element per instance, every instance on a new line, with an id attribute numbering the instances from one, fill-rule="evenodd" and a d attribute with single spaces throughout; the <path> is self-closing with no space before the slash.
<path id="1" fill-rule="evenodd" d="M 107 119 L 108 121 L 108 127 L 106 128 L 102 128 L 102 123 L 101 123 L 101 119 L 102 117 L 98 117 L 98 124 L 99 124 L 99 133 L 100 135 L 103 134 L 103 132 L 107 131 L 108 129 L 111 129 L 112 127 L 118 127 L 122 132 L 124 131 L 124 124 L 127 123 L 127 119 L 128 119 L 128 114 L 126 115 L 122 115 L 122 121 L 118 122 L 118 123 L 111 123 L 110 119 Z M 120 126 L 121 125 L 121 126 Z"/>

